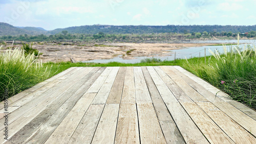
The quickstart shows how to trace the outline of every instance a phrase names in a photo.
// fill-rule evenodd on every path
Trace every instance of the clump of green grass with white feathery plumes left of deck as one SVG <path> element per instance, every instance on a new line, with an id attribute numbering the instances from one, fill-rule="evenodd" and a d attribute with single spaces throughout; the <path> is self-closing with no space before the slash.
<path id="1" fill-rule="evenodd" d="M 33 54 L 11 49 L 0 54 L 0 100 L 11 97 L 49 78 L 50 69 L 37 62 Z"/>

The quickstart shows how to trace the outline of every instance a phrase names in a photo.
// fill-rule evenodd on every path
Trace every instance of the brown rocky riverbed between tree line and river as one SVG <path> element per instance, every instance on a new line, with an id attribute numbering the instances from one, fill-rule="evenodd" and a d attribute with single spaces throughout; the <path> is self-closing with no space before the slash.
<path id="1" fill-rule="evenodd" d="M 13 47 L 21 47 L 22 42 L 16 42 Z M 42 53 L 42 62 L 88 61 L 95 59 L 111 59 L 121 56 L 123 59 L 134 57 L 166 56 L 167 50 L 183 47 L 204 46 L 216 43 L 82 43 L 82 42 L 34 42 L 33 49 Z M 4 49 L 11 43 L 3 45 Z"/>

